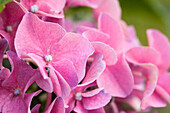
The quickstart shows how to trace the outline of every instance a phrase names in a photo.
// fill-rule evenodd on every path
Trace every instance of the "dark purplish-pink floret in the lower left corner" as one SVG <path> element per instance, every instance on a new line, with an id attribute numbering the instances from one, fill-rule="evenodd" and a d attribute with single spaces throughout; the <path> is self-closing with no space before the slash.
<path id="1" fill-rule="evenodd" d="M 0 112 L 3 113 L 27 113 L 30 112 L 31 100 L 40 91 L 26 94 L 28 87 L 35 81 L 37 70 L 33 70 L 17 55 L 7 52 L 12 65 L 12 72 L 6 75 L 0 73 L 0 78 L 5 79 L 0 85 Z"/>

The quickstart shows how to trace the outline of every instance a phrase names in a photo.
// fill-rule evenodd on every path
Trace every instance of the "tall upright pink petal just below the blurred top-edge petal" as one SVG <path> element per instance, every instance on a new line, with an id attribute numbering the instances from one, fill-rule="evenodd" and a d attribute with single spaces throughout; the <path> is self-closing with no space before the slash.
<path id="1" fill-rule="evenodd" d="M 110 39 L 106 43 L 113 47 L 117 53 L 120 53 L 124 49 L 124 33 L 119 22 L 111 16 L 102 13 L 98 19 L 98 29 L 110 35 Z"/>

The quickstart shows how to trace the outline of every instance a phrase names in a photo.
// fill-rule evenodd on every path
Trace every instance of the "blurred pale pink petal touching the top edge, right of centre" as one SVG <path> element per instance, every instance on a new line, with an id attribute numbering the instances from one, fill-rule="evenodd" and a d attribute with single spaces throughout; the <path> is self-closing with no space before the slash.
<path id="1" fill-rule="evenodd" d="M 107 13 L 116 20 L 121 19 L 121 8 L 118 0 L 103 0 L 100 6 L 94 9 L 94 16 L 97 20 L 100 13 Z"/>

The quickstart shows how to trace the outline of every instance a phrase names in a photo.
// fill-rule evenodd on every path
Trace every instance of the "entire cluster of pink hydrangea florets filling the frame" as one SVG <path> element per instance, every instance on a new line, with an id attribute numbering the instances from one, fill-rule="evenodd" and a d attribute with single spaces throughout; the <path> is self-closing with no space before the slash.
<path id="1" fill-rule="evenodd" d="M 77 6 L 92 8 L 97 25 L 64 16 Z M 147 30 L 147 38 L 148 46 L 142 46 L 134 27 L 121 19 L 118 0 L 6 4 L 0 13 L 0 112 L 39 113 L 40 104 L 30 106 L 41 92 L 47 94 L 44 113 L 165 107 L 170 103 L 170 43 L 155 29 Z M 35 83 L 39 90 L 28 93 Z"/>

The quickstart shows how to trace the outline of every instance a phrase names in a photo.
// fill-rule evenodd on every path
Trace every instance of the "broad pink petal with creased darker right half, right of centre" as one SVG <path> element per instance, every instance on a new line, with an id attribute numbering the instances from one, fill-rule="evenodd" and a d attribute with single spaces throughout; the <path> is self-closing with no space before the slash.
<path id="1" fill-rule="evenodd" d="M 119 55 L 115 65 L 106 67 L 97 79 L 97 84 L 112 96 L 126 97 L 131 93 L 134 80 L 131 69 L 123 55 Z"/>

